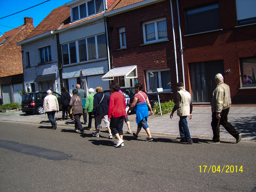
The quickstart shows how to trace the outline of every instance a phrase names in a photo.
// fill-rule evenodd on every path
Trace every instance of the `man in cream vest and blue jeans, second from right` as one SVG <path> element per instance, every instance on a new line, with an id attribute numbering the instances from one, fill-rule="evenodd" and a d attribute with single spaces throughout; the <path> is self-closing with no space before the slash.
<path id="1" fill-rule="evenodd" d="M 177 110 L 177 116 L 180 116 L 179 130 L 180 130 L 180 142 L 182 144 L 193 144 L 192 138 L 189 133 L 189 127 L 187 122 L 187 116 L 189 119 L 192 118 L 193 104 L 191 100 L 191 95 L 188 91 L 184 89 L 183 82 L 178 82 L 177 84 L 177 94 L 175 106 L 173 107 L 170 118 L 173 118 L 173 113 Z"/>

